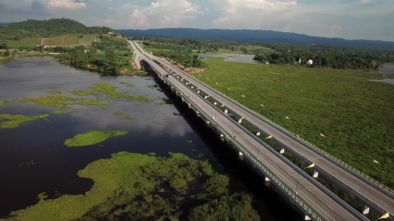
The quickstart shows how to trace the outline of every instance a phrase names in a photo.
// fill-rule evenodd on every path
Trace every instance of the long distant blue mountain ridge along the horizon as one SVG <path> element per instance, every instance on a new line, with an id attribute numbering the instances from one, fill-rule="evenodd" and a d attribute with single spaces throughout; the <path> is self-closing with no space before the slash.
<path id="1" fill-rule="evenodd" d="M 349 47 L 394 49 L 394 42 L 391 41 L 346 40 L 342 38 L 314 37 L 297 33 L 266 30 L 162 28 L 148 30 L 121 29 L 116 31 L 125 35 L 147 37 L 223 39 L 233 41 L 258 41 L 270 44 L 331 44 Z"/>

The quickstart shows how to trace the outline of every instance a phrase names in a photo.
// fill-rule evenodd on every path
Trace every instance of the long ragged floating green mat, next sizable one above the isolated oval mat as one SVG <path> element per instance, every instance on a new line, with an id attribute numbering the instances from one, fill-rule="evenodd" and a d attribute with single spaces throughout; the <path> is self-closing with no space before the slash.
<path id="1" fill-rule="evenodd" d="M 57 107 L 59 109 L 70 108 L 70 105 L 103 105 L 108 104 L 107 101 L 97 101 L 95 99 L 86 100 L 84 98 L 71 98 L 69 96 L 43 96 L 39 98 L 22 98 L 18 100 L 20 103 L 35 102 L 36 106 Z M 71 102 L 72 101 L 72 102 Z"/>

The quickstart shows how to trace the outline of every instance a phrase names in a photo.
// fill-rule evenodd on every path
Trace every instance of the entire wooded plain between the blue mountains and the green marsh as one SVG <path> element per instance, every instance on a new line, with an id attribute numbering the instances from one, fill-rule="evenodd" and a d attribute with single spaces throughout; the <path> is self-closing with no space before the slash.
<path id="1" fill-rule="evenodd" d="M 312 68 L 378 69 L 383 63 L 394 62 L 393 50 L 138 36 L 129 39 L 143 41 L 147 48 L 166 49 L 158 53 L 188 67 L 204 66 L 198 59 L 193 60 L 193 50 L 209 53 L 219 52 L 219 49 L 242 50 L 243 53 L 254 54 L 256 61 L 271 64 L 294 64 L 300 58 L 301 64 L 305 64 L 311 59 L 313 64 L 309 67 Z M 258 46 L 260 49 L 247 50 L 246 46 Z"/>

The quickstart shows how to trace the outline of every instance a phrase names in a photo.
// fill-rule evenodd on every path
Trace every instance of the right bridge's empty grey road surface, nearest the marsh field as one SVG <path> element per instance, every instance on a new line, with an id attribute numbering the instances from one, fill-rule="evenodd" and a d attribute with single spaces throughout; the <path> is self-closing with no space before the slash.
<path id="1" fill-rule="evenodd" d="M 137 46 L 143 52 L 143 49 L 138 44 Z M 167 66 L 174 67 L 172 64 L 168 63 L 168 61 L 165 61 L 163 59 L 160 60 L 164 61 L 167 64 Z M 294 138 L 288 136 L 287 134 L 269 125 L 268 123 L 262 121 L 260 118 L 242 109 L 235 103 L 232 103 L 227 98 L 221 96 L 220 94 L 217 94 L 214 90 L 211 90 L 209 87 L 206 87 L 203 84 L 199 83 L 185 72 L 182 72 L 176 68 L 172 68 L 172 70 L 174 70 L 174 72 L 178 74 L 180 77 L 183 77 L 186 81 L 191 82 L 193 85 L 195 85 L 195 87 L 200 88 L 206 94 L 209 94 L 211 97 L 215 98 L 217 101 L 219 101 L 219 103 L 225 104 L 227 107 L 237 112 L 245 119 L 253 122 L 260 129 L 271 134 L 273 137 L 277 138 L 278 140 L 286 144 L 288 147 L 292 148 L 300 155 L 309 159 L 311 162 L 318 165 L 327 173 L 331 174 L 333 177 L 336 177 L 336 179 L 348 185 L 351 189 L 361 193 L 364 197 L 366 197 L 370 201 L 374 202 L 376 205 L 383 208 L 383 210 L 385 210 L 386 212 L 389 212 L 390 214 L 394 214 L 394 198 L 388 196 L 385 193 L 382 193 L 381 190 L 378 189 L 379 187 L 377 185 L 371 186 L 370 181 L 367 181 L 366 179 L 361 179 L 353 175 L 346 169 L 341 168 L 340 166 L 334 164 L 330 160 L 323 158 L 321 155 L 311 150 L 310 147 L 297 142 L 296 140 L 294 140 Z"/>

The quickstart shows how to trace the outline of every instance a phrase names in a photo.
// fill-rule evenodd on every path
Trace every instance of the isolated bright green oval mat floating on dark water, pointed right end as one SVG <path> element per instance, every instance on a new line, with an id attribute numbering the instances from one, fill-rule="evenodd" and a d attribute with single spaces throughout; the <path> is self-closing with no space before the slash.
<path id="1" fill-rule="evenodd" d="M 84 134 L 77 134 L 73 138 L 65 140 L 64 145 L 67 145 L 68 147 L 82 147 L 98 144 L 112 136 L 121 136 L 126 134 L 128 134 L 127 131 L 87 131 Z"/>

